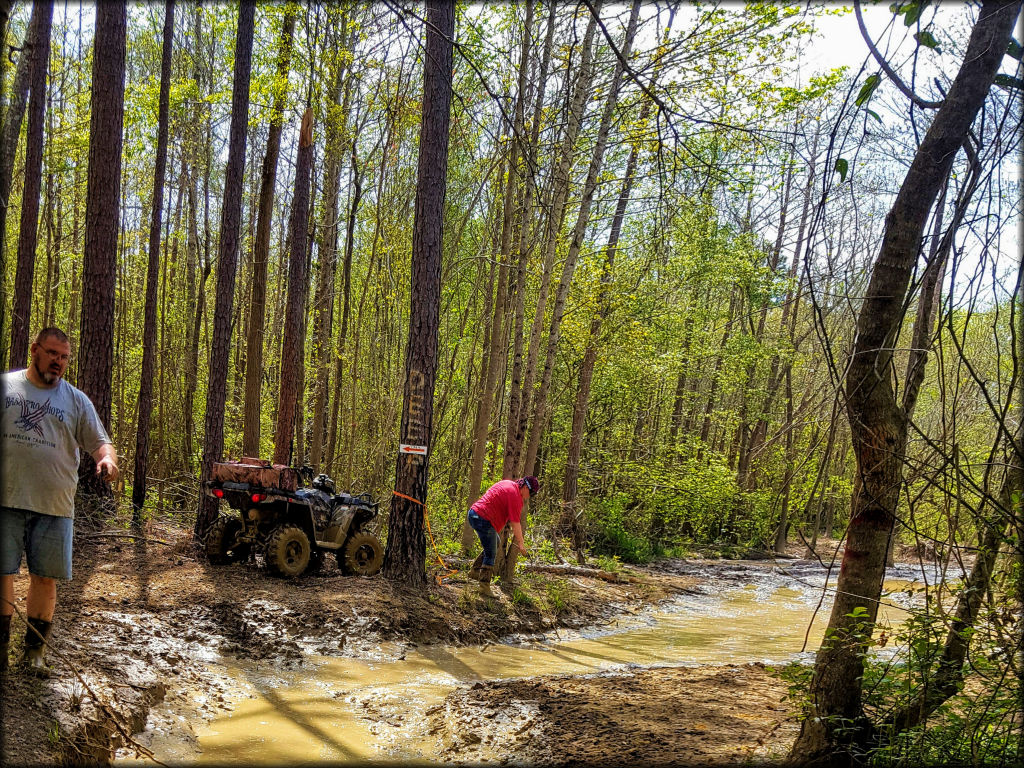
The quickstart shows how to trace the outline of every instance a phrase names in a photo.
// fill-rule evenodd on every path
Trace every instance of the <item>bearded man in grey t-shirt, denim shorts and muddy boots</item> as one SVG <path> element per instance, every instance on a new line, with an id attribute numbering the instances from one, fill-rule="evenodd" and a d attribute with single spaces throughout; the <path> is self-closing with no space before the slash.
<path id="1" fill-rule="evenodd" d="M 14 574 L 29 563 L 25 662 L 41 675 L 56 607 L 56 580 L 71 579 L 80 451 L 96 474 L 118 476 L 118 458 L 96 409 L 63 380 L 71 343 L 45 328 L 32 344 L 32 364 L 0 376 L 0 671 L 7 668 Z"/>

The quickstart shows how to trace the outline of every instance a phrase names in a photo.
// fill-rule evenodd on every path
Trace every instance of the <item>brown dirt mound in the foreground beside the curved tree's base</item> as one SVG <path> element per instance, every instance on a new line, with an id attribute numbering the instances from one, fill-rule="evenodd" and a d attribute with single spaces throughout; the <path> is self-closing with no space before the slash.
<path id="1" fill-rule="evenodd" d="M 534 766 L 750 764 L 799 730 L 764 665 L 639 669 L 478 683 L 431 714 L 438 757 Z"/>

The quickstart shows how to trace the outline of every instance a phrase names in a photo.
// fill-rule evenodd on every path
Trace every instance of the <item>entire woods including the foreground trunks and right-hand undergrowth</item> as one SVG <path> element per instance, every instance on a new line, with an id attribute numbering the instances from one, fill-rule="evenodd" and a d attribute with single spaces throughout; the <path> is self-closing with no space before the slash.
<path id="1" fill-rule="evenodd" d="M 134 522 L 308 464 L 420 586 L 525 474 L 542 559 L 845 539 L 792 757 L 1019 763 L 1020 3 L 855 4 L 857 71 L 830 4 L 426 5 L 0 0 L 9 368 L 70 332 Z M 880 665 L 899 545 L 970 573 Z"/>

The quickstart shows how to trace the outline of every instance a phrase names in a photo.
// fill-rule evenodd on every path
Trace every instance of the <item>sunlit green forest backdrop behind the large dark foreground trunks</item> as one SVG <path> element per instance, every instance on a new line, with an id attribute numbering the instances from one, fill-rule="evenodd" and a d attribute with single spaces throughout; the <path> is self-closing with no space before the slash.
<path id="1" fill-rule="evenodd" d="M 140 417 L 148 422 L 148 493 L 126 471 L 119 494 L 134 489 L 145 511 L 195 510 L 219 375 L 224 456 L 308 463 L 339 487 L 387 499 L 410 323 L 418 11 L 259 5 L 242 115 L 231 109 L 239 7 L 180 3 L 168 30 L 164 11 L 128 6 L 123 161 L 118 177 L 96 180 L 96 194 L 118 196 L 100 276 L 114 309 L 109 426 L 124 468 L 144 444 Z M 868 76 L 872 60 L 859 73 L 806 73 L 815 14 L 833 12 L 458 8 L 428 498 L 445 547 L 481 487 L 531 473 L 544 483 L 530 505 L 539 541 L 575 537 L 627 560 L 842 534 L 855 475 L 846 355 L 928 116 Z M 922 42 L 901 51 L 941 87 L 969 19 L 940 28 L 931 12 L 906 13 Z M 3 74 L 3 315 L 15 318 L 3 353 L 22 367 L 28 329 L 61 326 L 73 383 L 102 333 L 89 325 L 96 276 L 83 270 L 98 151 L 89 122 L 103 97 L 92 87 L 94 16 L 78 3 L 14 4 L 7 43 L 35 42 L 13 50 L 13 67 L 5 56 Z M 155 188 L 170 31 L 166 179 Z M 117 76 L 102 82 L 116 88 Z M 993 88 L 977 144 L 943 186 L 893 344 L 897 380 L 928 352 L 901 496 L 905 543 L 973 541 L 973 513 L 997 482 L 1019 362 L 1020 278 L 1007 257 L 1019 118 L 1019 91 Z M 247 140 L 224 301 L 229 120 Z M 109 175 L 110 158 L 96 172 L 104 166 Z M 140 413 L 143 385 L 152 404 Z M 295 397 L 285 443 L 283 388 Z"/>

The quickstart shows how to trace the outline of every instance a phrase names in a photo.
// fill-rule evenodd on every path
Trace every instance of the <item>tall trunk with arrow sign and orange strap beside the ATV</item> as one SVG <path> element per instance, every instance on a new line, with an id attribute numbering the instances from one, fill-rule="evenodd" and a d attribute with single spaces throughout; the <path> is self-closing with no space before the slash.
<path id="1" fill-rule="evenodd" d="M 421 445 L 422 455 L 399 451 L 395 490 L 388 518 L 384 575 L 414 587 L 426 584 L 426 540 L 423 519 L 427 502 L 429 446 L 432 435 L 434 379 L 437 373 L 437 329 L 440 310 L 441 244 L 452 103 L 452 52 L 455 6 L 429 0 L 423 62 L 423 117 L 413 222 L 413 268 L 406 347 L 406 386 L 400 440 Z"/>

